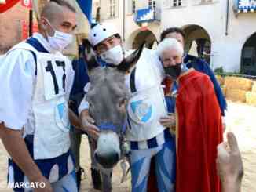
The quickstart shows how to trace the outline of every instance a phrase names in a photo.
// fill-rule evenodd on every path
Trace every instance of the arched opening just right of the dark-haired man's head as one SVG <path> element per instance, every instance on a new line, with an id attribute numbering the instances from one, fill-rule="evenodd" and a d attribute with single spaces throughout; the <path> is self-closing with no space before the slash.
<path id="1" fill-rule="evenodd" d="M 185 51 L 210 63 L 211 40 L 208 32 L 199 25 L 187 25 L 182 27 L 185 31 Z"/>

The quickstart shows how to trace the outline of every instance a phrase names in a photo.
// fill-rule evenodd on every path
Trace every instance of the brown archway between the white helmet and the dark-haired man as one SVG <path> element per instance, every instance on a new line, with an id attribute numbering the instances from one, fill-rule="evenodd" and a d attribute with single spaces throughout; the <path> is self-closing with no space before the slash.
<path id="1" fill-rule="evenodd" d="M 145 46 L 148 49 L 152 49 L 156 42 L 155 34 L 149 30 L 140 31 L 133 40 L 133 49 L 138 49 L 143 42 L 146 42 Z"/>

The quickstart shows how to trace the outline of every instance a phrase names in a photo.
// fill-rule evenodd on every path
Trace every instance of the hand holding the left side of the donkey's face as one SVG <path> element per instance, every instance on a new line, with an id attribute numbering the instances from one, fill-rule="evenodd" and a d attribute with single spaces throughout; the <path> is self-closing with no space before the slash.
<path id="1" fill-rule="evenodd" d="M 93 125 L 95 121 L 90 117 L 88 110 L 82 110 L 80 114 L 80 119 L 82 122 L 82 130 L 87 132 L 87 134 L 93 139 L 97 139 L 100 134 L 100 129 L 97 126 Z"/>

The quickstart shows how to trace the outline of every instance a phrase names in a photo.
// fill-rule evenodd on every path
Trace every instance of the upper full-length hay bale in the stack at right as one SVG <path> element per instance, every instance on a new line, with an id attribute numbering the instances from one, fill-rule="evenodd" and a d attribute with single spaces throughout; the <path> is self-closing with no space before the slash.
<path id="1" fill-rule="evenodd" d="M 253 81 L 247 78 L 225 77 L 225 86 L 228 89 L 251 91 Z"/>

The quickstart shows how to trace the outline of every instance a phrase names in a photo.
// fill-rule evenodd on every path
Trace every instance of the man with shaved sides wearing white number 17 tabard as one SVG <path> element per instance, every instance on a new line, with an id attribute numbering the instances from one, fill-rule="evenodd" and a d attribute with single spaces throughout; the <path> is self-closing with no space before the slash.
<path id="1" fill-rule="evenodd" d="M 60 53 L 72 42 L 75 9 L 64 0 L 48 2 L 38 24 L 39 33 L 9 50 L 0 65 L 0 137 L 10 155 L 9 186 L 75 192 L 68 119 L 74 71 Z"/>

